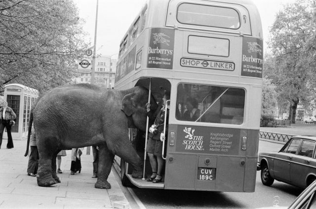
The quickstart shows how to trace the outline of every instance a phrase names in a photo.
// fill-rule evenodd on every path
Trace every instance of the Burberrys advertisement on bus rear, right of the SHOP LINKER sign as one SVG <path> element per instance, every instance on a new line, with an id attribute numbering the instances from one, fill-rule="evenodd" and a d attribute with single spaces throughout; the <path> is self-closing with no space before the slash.
<path id="1" fill-rule="evenodd" d="M 263 41 L 253 37 L 242 39 L 241 75 L 262 78 Z"/>

